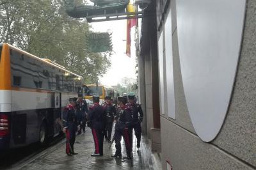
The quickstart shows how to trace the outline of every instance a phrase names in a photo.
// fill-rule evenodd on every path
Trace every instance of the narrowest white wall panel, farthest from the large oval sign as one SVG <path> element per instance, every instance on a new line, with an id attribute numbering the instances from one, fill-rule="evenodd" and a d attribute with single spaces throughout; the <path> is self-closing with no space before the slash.
<path id="1" fill-rule="evenodd" d="M 160 94 L 160 112 L 164 114 L 164 55 L 163 55 L 163 33 L 158 40 L 158 63 L 159 63 L 159 94 Z"/>

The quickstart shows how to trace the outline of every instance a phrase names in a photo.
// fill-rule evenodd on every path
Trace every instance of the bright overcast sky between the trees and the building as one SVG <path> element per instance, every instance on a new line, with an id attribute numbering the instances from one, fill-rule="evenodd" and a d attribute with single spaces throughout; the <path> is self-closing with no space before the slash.
<path id="1" fill-rule="evenodd" d="M 134 47 L 134 28 L 132 28 L 131 38 L 131 58 L 127 57 L 126 51 L 126 20 L 116 20 L 108 22 L 94 22 L 91 24 L 93 31 L 106 32 L 111 29 L 114 54 L 111 57 L 111 67 L 100 82 L 106 86 L 113 86 L 122 82 L 122 78 L 135 75 L 135 47 Z"/>

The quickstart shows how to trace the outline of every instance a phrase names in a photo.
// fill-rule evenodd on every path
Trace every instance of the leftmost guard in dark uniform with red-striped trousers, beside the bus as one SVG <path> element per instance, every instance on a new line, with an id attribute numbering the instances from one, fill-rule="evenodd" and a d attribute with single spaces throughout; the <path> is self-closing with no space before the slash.
<path id="1" fill-rule="evenodd" d="M 68 104 L 63 111 L 63 133 L 66 134 L 66 153 L 68 156 L 77 154 L 74 152 L 77 131 L 77 115 L 75 110 L 76 100 L 77 98 L 70 98 L 70 104 Z"/>

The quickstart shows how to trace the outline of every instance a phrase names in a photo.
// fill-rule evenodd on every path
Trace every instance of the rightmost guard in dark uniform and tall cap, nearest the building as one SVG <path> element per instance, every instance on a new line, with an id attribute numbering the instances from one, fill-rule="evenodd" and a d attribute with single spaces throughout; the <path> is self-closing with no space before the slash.
<path id="1" fill-rule="evenodd" d="M 143 121 L 143 111 L 139 104 L 134 102 L 135 95 L 128 95 L 129 104 L 127 107 L 131 109 L 132 128 L 134 129 L 137 138 L 137 148 L 140 148 L 141 141 L 141 122 Z"/>

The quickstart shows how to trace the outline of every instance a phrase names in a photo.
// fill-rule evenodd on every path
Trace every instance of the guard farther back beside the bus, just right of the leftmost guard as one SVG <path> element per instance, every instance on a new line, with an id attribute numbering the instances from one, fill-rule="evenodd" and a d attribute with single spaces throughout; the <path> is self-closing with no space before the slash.
<path id="1" fill-rule="evenodd" d="M 86 100 L 83 100 L 82 96 L 79 95 L 76 102 L 76 111 L 77 111 L 77 121 L 78 125 L 81 126 L 81 129 L 78 131 L 78 134 L 85 133 L 85 124 L 86 124 L 86 114 L 88 112 L 88 107 Z"/>

